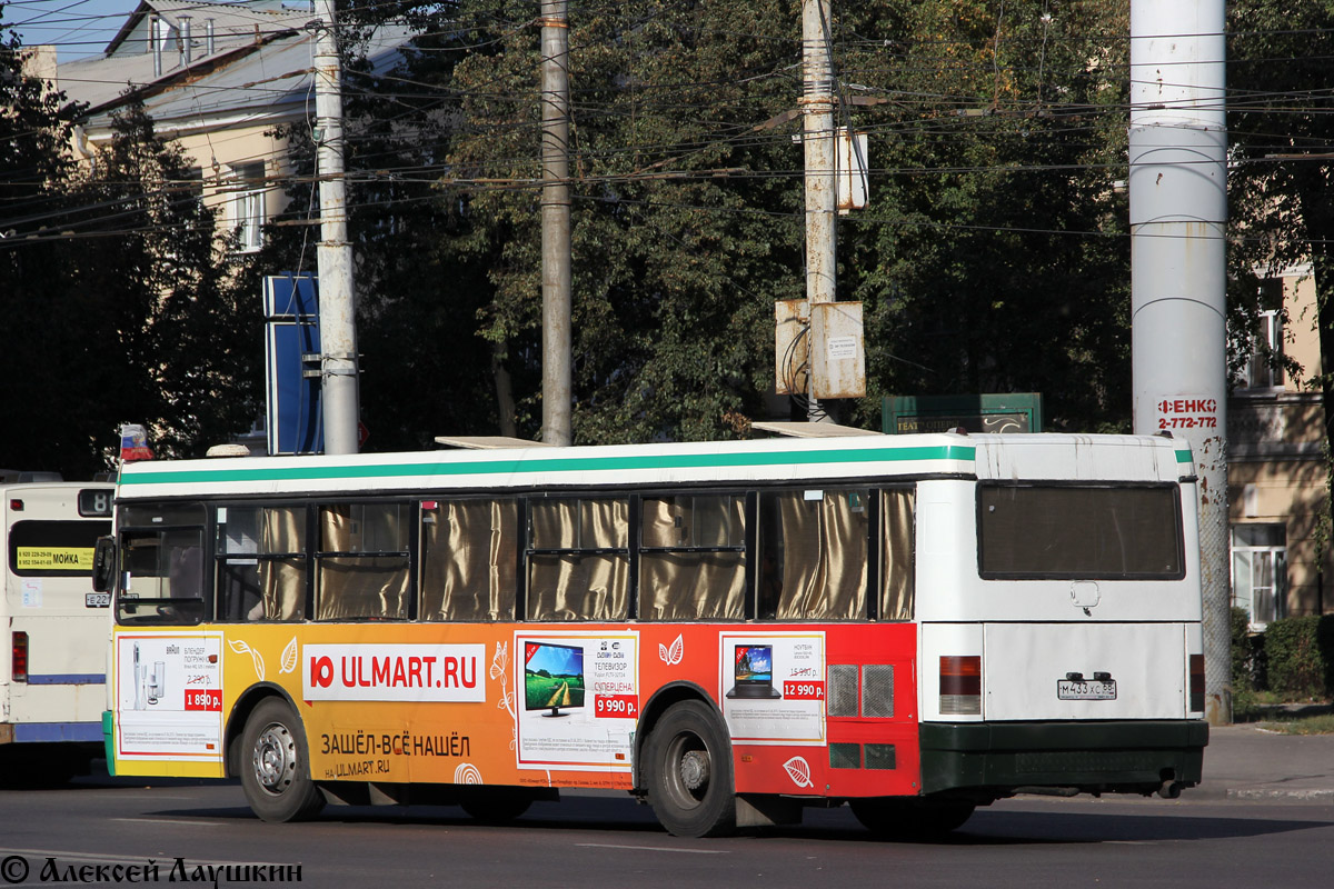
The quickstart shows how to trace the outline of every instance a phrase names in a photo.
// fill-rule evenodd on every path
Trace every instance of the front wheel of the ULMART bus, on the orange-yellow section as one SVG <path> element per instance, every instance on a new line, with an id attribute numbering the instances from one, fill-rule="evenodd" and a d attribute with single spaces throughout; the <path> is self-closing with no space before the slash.
<path id="1" fill-rule="evenodd" d="M 311 781 L 301 721 L 285 702 L 267 698 L 245 720 L 241 736 L 241 788 L 263 821 L 303 821 L 324 808 Z"/>

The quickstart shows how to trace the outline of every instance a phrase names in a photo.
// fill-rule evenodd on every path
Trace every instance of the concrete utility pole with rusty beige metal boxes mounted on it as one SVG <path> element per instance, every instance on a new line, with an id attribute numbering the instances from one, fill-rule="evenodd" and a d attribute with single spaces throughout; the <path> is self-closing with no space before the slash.
<path id="1" fill-rule="evenodd" d="M 836 293 L 836 241 L 834 220 L 834 64 L 830 60 L 827 25 L 830 0 L 802 1 L 802 147 L 806 155 L 806 300 L 811 312 L 832 303 Z M 814 360 L 814 351 L 807 352 Z M 815 375 L 807 373 L 807 392 Z M 832 423 L 811 393 L 807 420 Z"/>

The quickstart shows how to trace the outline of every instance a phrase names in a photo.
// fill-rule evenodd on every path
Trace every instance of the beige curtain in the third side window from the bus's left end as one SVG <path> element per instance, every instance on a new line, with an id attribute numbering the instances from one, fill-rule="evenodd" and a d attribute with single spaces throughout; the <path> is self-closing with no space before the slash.
<path id="1" fill-rule="evenodd" d="M 408 557 L 406 508 L 390 504 L 323 506 L 316 620 L 408 616 Z M 360 552 L 403 550 L 399 556 Z"/>

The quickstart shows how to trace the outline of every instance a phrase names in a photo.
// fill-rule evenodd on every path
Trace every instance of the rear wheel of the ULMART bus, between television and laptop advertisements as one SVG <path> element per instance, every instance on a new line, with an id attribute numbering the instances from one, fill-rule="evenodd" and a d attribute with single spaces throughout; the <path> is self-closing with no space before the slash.
<path id="1" fill-rule="evenodd" d="M 648 802 L 678 837 L 720 837 L 736 829 L 732 752 L 703 701 L 674 704 L 644 741 Z"/>

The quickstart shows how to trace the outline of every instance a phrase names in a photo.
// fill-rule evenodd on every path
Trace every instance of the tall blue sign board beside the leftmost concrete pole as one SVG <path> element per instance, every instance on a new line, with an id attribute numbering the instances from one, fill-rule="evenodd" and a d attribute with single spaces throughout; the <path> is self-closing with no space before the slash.
<path id="1" fill-rule="evenodd" d="M 288 272 L 264 279 L 268 452 L 321 453 L 319 281 Z"/>

